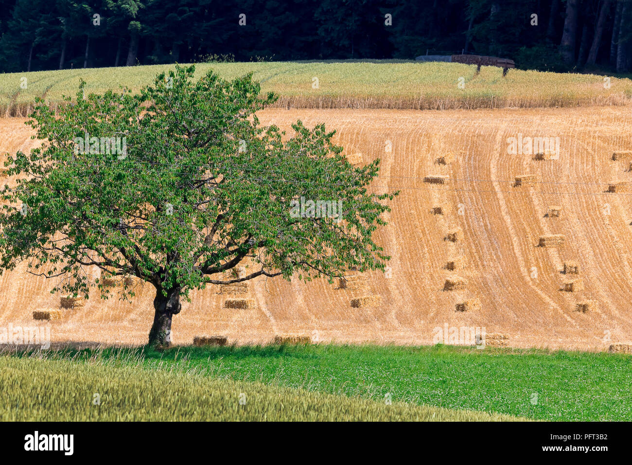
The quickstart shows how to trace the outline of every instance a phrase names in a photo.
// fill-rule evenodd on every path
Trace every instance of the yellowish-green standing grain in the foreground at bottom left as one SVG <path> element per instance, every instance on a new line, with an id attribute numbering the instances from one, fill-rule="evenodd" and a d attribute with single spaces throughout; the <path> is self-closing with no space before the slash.
<path id="1" fill-rule="evenodd" d="M 102 362 L 0 357 L 0 421 L 514 420 Z"/>

